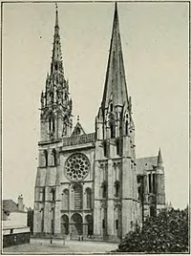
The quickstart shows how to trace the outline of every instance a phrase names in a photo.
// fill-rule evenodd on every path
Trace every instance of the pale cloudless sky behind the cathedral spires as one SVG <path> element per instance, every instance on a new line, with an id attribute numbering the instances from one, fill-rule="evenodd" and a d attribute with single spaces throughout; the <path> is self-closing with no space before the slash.
<path id="1" fill-rule="evenodd" d="M 59 3 L 65 77 L 87 133 L 94 132 L 111 40 L 114 3 Z M 118 4 L 137 157 L 161 148 L 166 200 L 188 203 L 188 4 Z M 40 95 L 50 71 L 53 3 L 3 5 L 3 199 L 33 206 Z"/>

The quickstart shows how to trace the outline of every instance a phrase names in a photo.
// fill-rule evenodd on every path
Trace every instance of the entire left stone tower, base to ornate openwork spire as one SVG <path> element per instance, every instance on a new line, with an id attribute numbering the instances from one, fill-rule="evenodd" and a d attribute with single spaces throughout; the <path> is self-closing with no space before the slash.
<path id="1" fill-rule="evenodd" d="M 39 166 L 34 189 L 34 233 L 54 233 L 56 230 L 56 194 L 59 189 L 59 145 L 71 136 L 73 128 L 72 99 L 69 82 L 64 77 L 58 26 L 55 11 L 51 71 L 41 94 Z"/>

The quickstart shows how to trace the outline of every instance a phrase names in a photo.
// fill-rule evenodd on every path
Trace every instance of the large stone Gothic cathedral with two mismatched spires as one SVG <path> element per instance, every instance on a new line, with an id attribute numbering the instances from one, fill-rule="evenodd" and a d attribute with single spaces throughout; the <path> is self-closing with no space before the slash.
<path id="1" fill-rule="evenodd" d="M 79 120 L 73 125 L 69 92 L 56 8 L 51 70 L 40 99 L 33 234 L 118 241 L 165 207 L 165 181 L 160 149 L 155 157 L 136 158 L 117 4 L 93 133 Z"/>

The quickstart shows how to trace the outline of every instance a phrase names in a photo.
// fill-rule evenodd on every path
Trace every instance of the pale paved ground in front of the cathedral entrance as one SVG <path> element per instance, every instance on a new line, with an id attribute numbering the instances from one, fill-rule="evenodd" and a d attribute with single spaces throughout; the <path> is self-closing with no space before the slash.
<path id="1" fill-rule="evenodd" d="M 64 254 L 64 253 L 109 253 L 111 250 L 115 250 L 117 244 L 105 243 L 105 242 L 91 242 L 91 241 L 66 241 L 63 245 L 63 241 L 50 240 L 31 240 L 31 244 L 16 245 L 3 249 L 3 254 L 26 254 L 26 253 L 51 253 L 51 254 Z"/>

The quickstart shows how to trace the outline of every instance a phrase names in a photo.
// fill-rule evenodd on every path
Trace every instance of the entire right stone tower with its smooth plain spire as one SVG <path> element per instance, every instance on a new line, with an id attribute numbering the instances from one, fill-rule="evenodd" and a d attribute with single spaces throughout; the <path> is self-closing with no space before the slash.
<path id="1" fill-rule="evenodd" d="M 101 106 L 96 117 L 94 232 L 123 237 L 138 219 L 135 126 L 128 96 L 117 4 Z"/>

